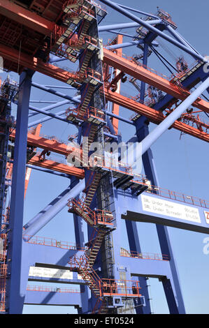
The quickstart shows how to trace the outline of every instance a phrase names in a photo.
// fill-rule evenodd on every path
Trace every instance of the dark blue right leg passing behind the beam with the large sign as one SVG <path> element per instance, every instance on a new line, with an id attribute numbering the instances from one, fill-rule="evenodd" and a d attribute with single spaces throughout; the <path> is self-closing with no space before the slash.
<path id="1" fill-rule="evenodd" d="M 144 117 L 140 117 L 136 121 L 136 135 L 138 141 L 142 141 L 149 134 L 148 122 L 145 121 Z M 151 149 L 148 149 L 143 154 L 143 166 L 147 179 L 151 181 L 151 184 L 158 186 L 157 173 L 154 166 L 154 160 Z M 168 228 L 164 225 L 156 225 L 157 234 L 159 238 L 159 244 L 161 247 L 161 253 L 169 256 L 170 268 L 171 268 L 171 279 L 164 278 L 162 281 L 168 308 L 170 313 L 185 313 L 184 301 L 182 298 L 182 291 L 180 288 L 180 282 L 178 278 L 178 270 L 176 268 L 175 259 L 173 257 L 173 251 L 170 243 Z"/>

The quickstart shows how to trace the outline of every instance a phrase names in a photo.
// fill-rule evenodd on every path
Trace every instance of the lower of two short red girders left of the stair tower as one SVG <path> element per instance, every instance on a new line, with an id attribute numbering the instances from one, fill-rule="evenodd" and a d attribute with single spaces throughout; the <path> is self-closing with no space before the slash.
<path id="1" fill-rule="evenodd" d="M 85 177 L 85 171 L 78 167 L 71 167 L 69 165 L 58 163 L 55 161 L 50 161 L 50 160 L 45 160 L 41 162 L 39 161 L 38 156 L 34 156 L 33 158 L 31 158 L 31 160 L 28 163 L 39 167 L 45 167 L 50 170 L 55 170 L 57 172 L 73 175 L 75 177 L 78 177 L 79 179 L 83 179 Z"/>

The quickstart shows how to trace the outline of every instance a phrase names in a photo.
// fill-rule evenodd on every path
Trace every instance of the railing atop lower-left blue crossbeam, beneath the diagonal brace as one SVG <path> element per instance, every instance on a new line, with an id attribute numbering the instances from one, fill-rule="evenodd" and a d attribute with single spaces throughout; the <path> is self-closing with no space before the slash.
<path id="1" fill-rule="evenodd" d="M 24 237 L 31 237 L 27 234 L 24 235 Z M 85 247 L 81 247 L 78 244 L 69 243 L 69 241 L 57 241 L 57 239 L 47 238 L 47 237 L 40 237 L 40 236 L 34 236 L 27 241 L 28 244 L 36 244 L 36 245 L 44 245 L 44 246 L 51 246 L 51 247 L 57 247 L 62 249 L 69 249 L 72 251 L 85 251 Z"/>

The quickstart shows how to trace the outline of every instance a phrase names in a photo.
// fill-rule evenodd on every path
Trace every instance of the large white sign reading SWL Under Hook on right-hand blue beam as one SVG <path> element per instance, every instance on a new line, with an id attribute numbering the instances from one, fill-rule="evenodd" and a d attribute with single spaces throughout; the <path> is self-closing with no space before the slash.
<path id="1" fill-rule="evenodd" d="M 199 209 L 195 207 L 145 195 L 141 195 L 141 200 L 143 211 L 171 216 L 172 218 L 182 218 L 182 220 L 192 221 L 194 223 L 201 223 Z"/>

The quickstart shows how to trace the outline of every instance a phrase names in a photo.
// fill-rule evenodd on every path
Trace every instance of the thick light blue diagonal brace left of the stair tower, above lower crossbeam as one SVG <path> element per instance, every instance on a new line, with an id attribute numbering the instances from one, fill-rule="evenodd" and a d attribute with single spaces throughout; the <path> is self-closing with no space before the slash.
<path id="1" fill-rule="evenodd" d="M 34 236 L 39 230 L 41 230 L 52 218 L 54 218 L 59 211 L 62 211 L 69 201 L 69 198 L 76 197 L 85 188 L 85 180 L 81 180 L 72 189 L 67 188 L 61 195 L 59 195 L 55 200 L 52 200 L 45 209 L 38 213 L 34 218 L 32 218 L 26 225 L 24 225 L 23 239 L 28 241 Z"/>

